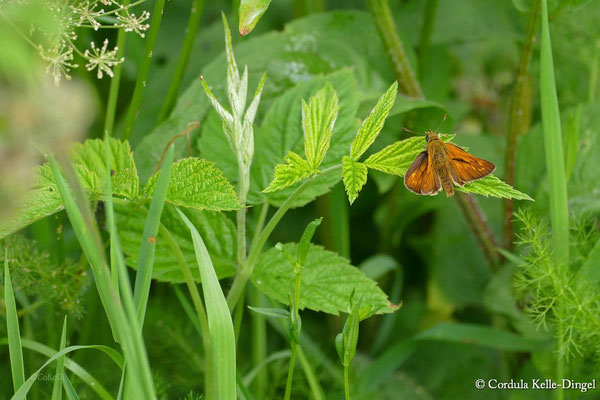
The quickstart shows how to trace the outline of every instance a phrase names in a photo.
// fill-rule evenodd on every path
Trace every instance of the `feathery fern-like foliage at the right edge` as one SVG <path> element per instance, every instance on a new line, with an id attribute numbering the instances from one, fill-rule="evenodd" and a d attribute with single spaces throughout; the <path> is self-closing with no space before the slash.
<path id="1" fill-rule="evenodd" d="M 573 226 L 572 247 L 583 250 L 569 264 L 556 262 L 548 224 L 530 209 L 516 214 L 523 227 L 517 235 L 522 262 L 517 265 L 515 287 L 526 311 L 540 326 L 555 332 L 559 356 L 597 355 L 600 341 L 600 234 L 581 223 Z M 592 233 L 593 232 L 593 233 Z M 594 236 L 595 246 L 577 243 Z M 578 239 L 579 238 L 579 239 Z M 592 265 L 595 265 L 592 267 Z"/>

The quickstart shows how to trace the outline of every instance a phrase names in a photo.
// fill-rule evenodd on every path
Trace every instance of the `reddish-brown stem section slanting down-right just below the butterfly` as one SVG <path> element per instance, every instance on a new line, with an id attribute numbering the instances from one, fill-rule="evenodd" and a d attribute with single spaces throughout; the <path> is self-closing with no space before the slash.
<path id="1" fill-rule="evenodd" d="M 500 255 L 496 250 L 498 244 L 487 224 L 485 214 L 477 205 L 473 195 L 469 193 L 457 192 L 456 200 L 458 201 L 471 230 L 475 234 L 475 238 L 483 250 L 483 254 L 489 260 L 492 272 L 494 272 L 500 263 Z"/>

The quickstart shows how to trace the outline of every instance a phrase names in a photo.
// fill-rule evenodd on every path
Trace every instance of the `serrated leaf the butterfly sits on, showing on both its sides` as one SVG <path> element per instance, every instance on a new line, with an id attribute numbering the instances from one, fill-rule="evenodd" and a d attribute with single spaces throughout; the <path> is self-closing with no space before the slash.
<path id="1" fill-rule="evenodd" d="M 440 138 L 445 142 L 450 142 L 454 136 L 455 135 L 441 134 Z M 371 155 L 365 161 L 365 165 L 368 168 L 382 171 L 387 174 L 404 176 L 417 155 L 425 150 L 425 146 L 425 138 L 414 136 L 393 143 L 378 153 Z M 485 178 L 467 183 L 462 187 L 455 187 L 457 190 L 465 193 L 481 194 L 486 197 L 492 196 L 505 199 L 533 201 L 527 194 L 519 192 L 494 175 L 488 175 Z"/>

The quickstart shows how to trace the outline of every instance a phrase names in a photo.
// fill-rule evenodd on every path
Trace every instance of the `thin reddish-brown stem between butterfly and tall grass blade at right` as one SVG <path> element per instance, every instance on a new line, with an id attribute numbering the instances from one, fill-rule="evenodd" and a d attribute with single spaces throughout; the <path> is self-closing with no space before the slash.
<path id="1" fill-rule="evenodd" d="M 517 139 L 521 134 L 529 131 L 531 125 L 531 77 L 529 76 L 529 66 L 531 64 L 531 55 L 533 53 L 533 44 L 538 27 L 538 16 L 540 12 L 541 0 L 534 0 L 531 3 L 527 30 L 525 33 L 525 42 L 521 51 L 521 60 L 513 93 L 510 113 L 508 119 L 508 136 L 506 139 L 506 171 L 504 180 L 511 186 L 515 184 L 515 157 L 517 154 Z M 504 246 L 512 248 L 514 228 L 513 228 L 514 202 L 512 199 L 504 200 Z"/>

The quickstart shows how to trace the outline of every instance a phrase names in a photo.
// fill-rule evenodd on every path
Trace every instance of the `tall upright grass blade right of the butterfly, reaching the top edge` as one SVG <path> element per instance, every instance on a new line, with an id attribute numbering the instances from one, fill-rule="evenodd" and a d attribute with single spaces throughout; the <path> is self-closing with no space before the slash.
<path id="1" fill-rule="evenodd" d="M 560 112 L 556 96 L 552 44 L 548 26 L 547 0 L 542 0 L 540 96 L 544 126 L 544 150 L 550 183 L 552 241 L 557 262 L 567 263 L 569 260 L 569 207 L 567 204 L 567 181 L 564 168 L 565 158 L 563 155 Z"/>

